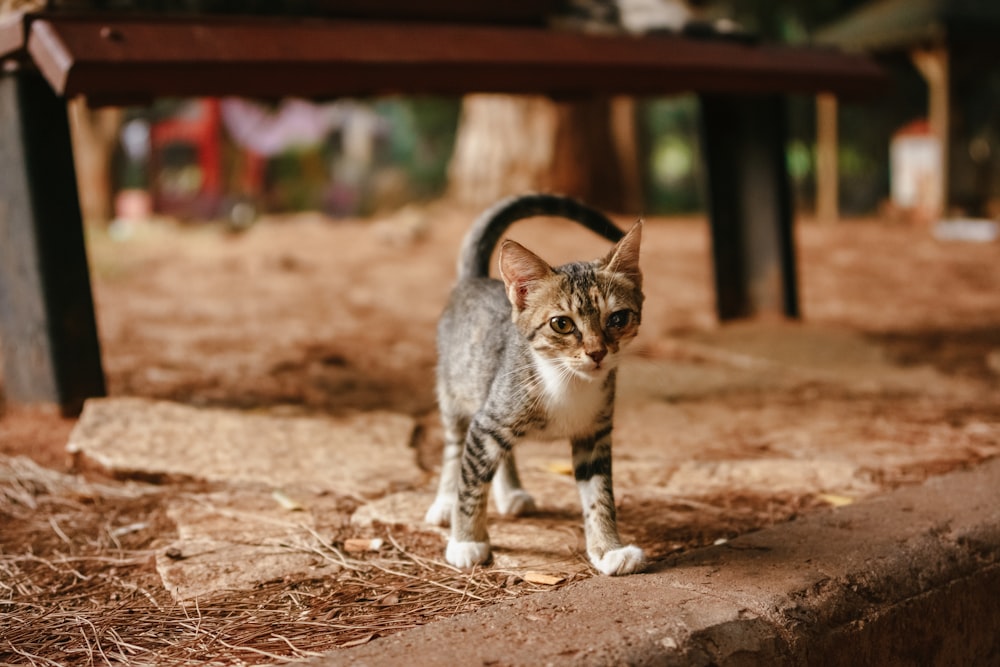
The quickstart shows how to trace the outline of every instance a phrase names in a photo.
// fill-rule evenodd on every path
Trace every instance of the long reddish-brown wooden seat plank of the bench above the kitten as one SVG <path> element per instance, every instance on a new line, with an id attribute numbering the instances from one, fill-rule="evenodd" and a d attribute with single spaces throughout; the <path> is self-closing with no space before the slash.
<path id="1" fill-rule="evenodd" d="M 865 58 L 677 36 L 357 21 L 38 18 L 28 50 L 64 95 L 560 96 L 683 91 L 866 95 Z"/>

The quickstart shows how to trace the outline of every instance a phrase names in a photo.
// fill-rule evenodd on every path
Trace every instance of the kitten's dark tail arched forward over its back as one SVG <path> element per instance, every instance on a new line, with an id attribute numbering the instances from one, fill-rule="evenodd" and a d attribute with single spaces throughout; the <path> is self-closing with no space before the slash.
<path id="1" fill-rule="evenodd" d="M 615 243 L 625 235 L 606 215 L 570 197 L 552 194 L 509 197 L 484 211 L 465 235 L 458 255 L 458 279 L 488 276 L 493 248 L 507 228 L 518 220 L 538 215 L 568 218 Z"/>

